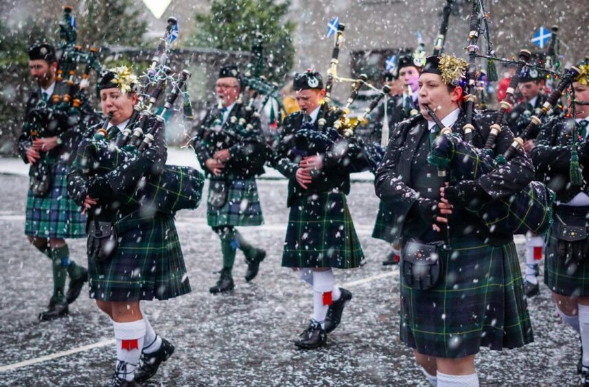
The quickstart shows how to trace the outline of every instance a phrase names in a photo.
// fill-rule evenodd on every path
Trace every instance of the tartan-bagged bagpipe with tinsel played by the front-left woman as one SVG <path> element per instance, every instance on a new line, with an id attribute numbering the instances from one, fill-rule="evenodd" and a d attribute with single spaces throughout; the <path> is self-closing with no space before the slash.
<path id="1" fill-rule="evenodd" d="M 128 165 L 146 160 L 146 152 L 154 146 L 164 146 L 165 115 L 173 108 L 179 95 L 184 94 L 186 97 L 187 92 L 183 89 L 191 75 L 189 71 L 183 70 L 176 77 L 165 66 L 166 51 L 173 42 L 170 36 L 174 36 L 174 32 L 177 35 L 177 31 L 176 19 L 170 18 L 162 39 L 163 44 L 159 45 L 152 67 L 141 77 L 141 102 L 138 102 L 138 108 L 134 107 L 134 113 L 137 114 L 130 119 L 127 127 L 115 139 L 109 139 L 106 128 L 112 116 L 108 115 L 94 137 L 80 143 L 78 159 L 82 172 L 90 177 L 106 174 L 124 176 L 132 173 L 132 169 L 131 172 L 126 172 Z M 157 102 L 167 84 L 171 85 L 171 91 L 156 114 Z M 178 165 L 165 165 L 159 172 L 161 173 L 150 173 L 146 176 L 128 176 L 137 184 L 130 190 L 115 189 L 117 198 L 124 205 L 137 206 L 145 215 L 154 211 L 173 214 L 181 209 L 198 207 L 205 181 L 203 174 L 192 167 Z"/>

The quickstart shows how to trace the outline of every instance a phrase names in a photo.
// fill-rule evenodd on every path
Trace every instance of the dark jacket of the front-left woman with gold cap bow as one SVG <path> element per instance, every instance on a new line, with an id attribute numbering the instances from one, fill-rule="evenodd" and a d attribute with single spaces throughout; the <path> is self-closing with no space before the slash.
<path id="1" fill-rule="evenodd" d="M 151 118 L 147 127 L 153 123 L 154 118 Z M 100 125 L 93 126 L 89 131 L 93 133 L 98 128 Z M 113 136 L 111 142 L 114 142 L 117 136 L 122 136 L 122 133 L 119 130 L 113 133 Z M 121 163 L 111 172 L 100 172 L 99 165 L 86 163 L 85 155 L 80 149 L 67 176 L 67 191 L 79 206 L 84 202 L 86 195 L 97 199 L 97 204 L 88 213 L 88 222 L 115 222 L 124 215 L 137 211 L 137 205 L 122 205 L 122 198 L 135 190 L 142 176 L 161 174 L 167 156 L 163 126 L 157 131 L 150 148 L 145 150 L 141 157 Z M 89 165 L 90 172 L 82 170 L 85 165 Z"/>

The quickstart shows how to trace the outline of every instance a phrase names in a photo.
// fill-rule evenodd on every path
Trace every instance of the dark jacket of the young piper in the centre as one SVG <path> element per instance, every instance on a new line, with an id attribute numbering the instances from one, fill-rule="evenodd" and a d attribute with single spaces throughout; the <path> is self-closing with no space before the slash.
<path id="1" fill-rule="evenodd" d="M 321 105 L 317 119 L 313 123 L 313 127 L 315 130 L 319 130 L 318 121 L 323 118 L 325 119 L 323 131 L 326 132 L 329 128 L 333 127 L 334 122 L 342 114 L 342 110 L 323 104 Z M 310 196 L 313 193 L 329 192 L 334 189 L 348 194 L 350 189 L 349 174 L 367 169 L 365 155 L 360 152 L 359 148 L 354 148 L 354 152 L 346 154 L 326 152 L 325 154 L 321 154 L 323 157 L 323 169 L 319 171 L 318 176 L 313 178 L 312 182 L 308 185 L 308 189 L 303 189 L 295 178 L 301 159 L 301 156 L 295 152 L 295 133 L 301 130 L 303 117 L 305 117 L 305 113 L 299 111 L 288 115 L 284 119 L 283 128 L 272 161 L 272 166 L 289 179 L 288 207 L 299 196 Z M 354 139 L 349 139 L 349 141 L 354 147 L 357 145 Z"/>

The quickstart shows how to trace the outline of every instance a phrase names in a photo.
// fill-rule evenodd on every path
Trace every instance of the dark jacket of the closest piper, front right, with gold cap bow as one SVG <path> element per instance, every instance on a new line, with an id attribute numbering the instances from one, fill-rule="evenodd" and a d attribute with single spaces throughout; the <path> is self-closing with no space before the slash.
<path id="1" fill-rule="evenodd" d="M 496 112 L 485 110 L 474 114 L 473 125 L 476 130 L 472 144 L 483 148 L 489 134 L 489 126 L 494 123 Z M 465 115 L 461 111 L 453 132 L 463 135 Z M 495 154 L 503 154 L 513 140 L 513 134 L 503 128 L 496 139 Z M 429 165 L 427 156 L 430 150 L 429 130 L 426 119 L 419 115 L 403 121 L 395 128 L 384 154 L 384 159 L 376 172 L 376 194 L 403 220 L 400 237 L 418 238 L 431 242 L 442 240 L 445 233 L 435 233 L 432 222 L 427 222 L 417 208 L 418 198 L 428 198 L 439 202 L 439 189 L 443 180 L 437 177 L 437 169 Z M 493 198 L 507 198 L 524 188 L 533 178 L 533 167 L 529 158 L 518 154 L 494 172 L 478 178 L 478 184 Z M 414 205 L 415 204 L 415 205 Z M 488 228 L 476 216 L 464 209 L 454 208 L 450 215 L 450 236 L 479 234 L 489 238 L 493 244 L 504 244 L 513 237 L 498 231 L 490 234 Z"/>

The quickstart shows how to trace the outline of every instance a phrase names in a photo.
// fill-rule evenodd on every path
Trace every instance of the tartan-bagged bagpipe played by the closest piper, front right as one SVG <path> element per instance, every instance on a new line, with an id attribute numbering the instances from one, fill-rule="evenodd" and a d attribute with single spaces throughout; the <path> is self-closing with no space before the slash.
<path id="1" fill-rule="evenodd" d="M 562 76 L 558 87 L 542 106 L 540 116 L 532 117 L 529 126 L 524 130 L 522 138 L 514 139 L 505 154 L 494 157 L 494 143 L 501 131 L 505 113 L 513 103 L 520 71 L 524 65 L 527 65 L 527 60 L 530 58 L 529 51 L 520 51 L 519 58 L 518 71 L 511 78 L 505 100 L 500 102 L 500 110 L 496 115 L 495 123 L 489 128 L 490 132 L 484 148 L 475 148 L 458 134 L 452 133 L 449 128 L 443 128 L 440 136 L 432 144 L 428 161 L 438 167 L 439 176 L 446 176 L 448 171 L 450 183 L 457 183 L 461 180 L 476 180 L 484 174 L 503 167 L 517 154 L 518 149 L 524 143 L 524 139 L 527 139 L 529 133 L 541 124 L 542 117 L 554 106 L 562 92 L 579 75 L 579 69 L 575 67 L 568 69 Z M 429 108 L 428 112 L 441 128 L 441 123 L 435 117 L 435 113 Z M 574 163 L 571 163 L 571 170 L 573 169 L 578 170 L 578 165 L 575 166 Z M 494 200 L 480 205 L 478 208 L 467 208 L 467 211 L 475 213 L 481 218 L 492 232 L 524 234 L 527 231 L 532 231 L 533 233 L 544 234 L 553 221 L 552 207 L 554 201 L 555 193 L 551 189 L 548 189 L 543 183 L 533 181 L 527 187 L 524 187 L 522 191 L 509 198 Z"/>

